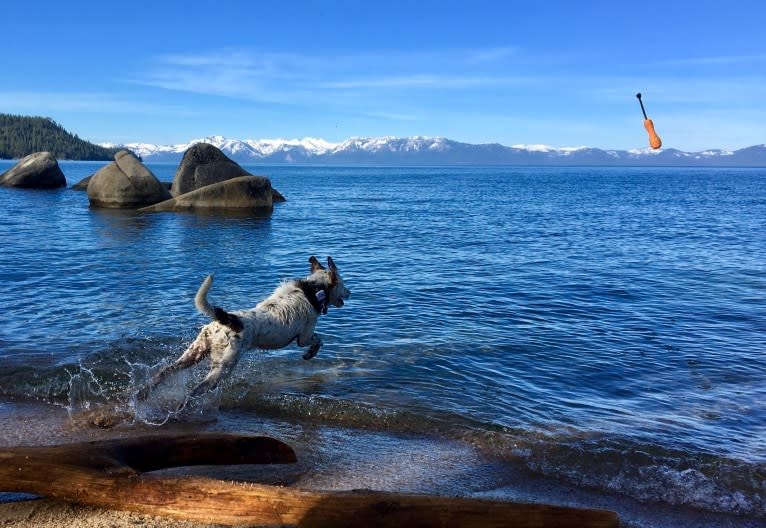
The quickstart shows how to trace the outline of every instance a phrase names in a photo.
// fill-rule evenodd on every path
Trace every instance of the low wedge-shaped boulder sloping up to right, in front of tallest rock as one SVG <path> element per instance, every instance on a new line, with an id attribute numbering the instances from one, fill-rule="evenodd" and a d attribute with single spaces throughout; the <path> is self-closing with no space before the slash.
<path id="1" fill-rule="evenodd" d="M 141 212 L 158 211 L 231 211 L 269 213 L 274 200 L 271 182 L 263 176 L 239 176 L 206 185 L 170 200 L 140 209 Z"/>

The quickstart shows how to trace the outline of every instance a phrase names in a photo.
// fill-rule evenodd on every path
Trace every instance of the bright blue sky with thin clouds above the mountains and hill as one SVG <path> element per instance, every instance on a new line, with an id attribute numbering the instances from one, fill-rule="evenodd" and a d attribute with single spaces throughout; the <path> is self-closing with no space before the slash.
<path id="1" fill-rule="evenodd" d="M 0 112 L 95 142 L 766 143 L 766 3 L 20 2 Z"/>

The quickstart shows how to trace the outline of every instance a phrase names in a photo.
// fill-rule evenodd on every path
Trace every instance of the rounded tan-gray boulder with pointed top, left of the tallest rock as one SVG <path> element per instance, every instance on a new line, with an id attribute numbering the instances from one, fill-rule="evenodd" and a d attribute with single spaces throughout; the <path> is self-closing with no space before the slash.
<path id="1" fill-rule="evenodd" d="M 167 188 L 129 150 L 121 150 L 88 183 L 94 207 L 137 208 L 170 198 Z"/>

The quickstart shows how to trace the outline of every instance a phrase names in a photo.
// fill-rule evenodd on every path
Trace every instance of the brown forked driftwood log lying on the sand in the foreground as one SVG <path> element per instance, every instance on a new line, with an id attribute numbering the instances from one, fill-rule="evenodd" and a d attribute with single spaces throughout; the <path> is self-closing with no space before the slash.
<path id="1" fill-rule="evenodd" d="M 319 492 L 146 473 L 295 460 L 292 448 L 278 440 L 216 433 L 0 449 L 0 491 L 227 525 L 618 525 L 617 515 L 603 510 L 372 491 Z"/>

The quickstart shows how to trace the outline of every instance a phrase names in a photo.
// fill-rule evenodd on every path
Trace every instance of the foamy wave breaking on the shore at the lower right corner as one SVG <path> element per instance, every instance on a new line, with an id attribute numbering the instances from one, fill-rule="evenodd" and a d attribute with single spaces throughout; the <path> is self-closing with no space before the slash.
<path id="1" fill-rule="evenodd" d="M 577 486 L 766 518 L 766 464 L 574 431 L 472 432 L 468 439 L 492 456 L 522 461 L 536 473 Z"/>

